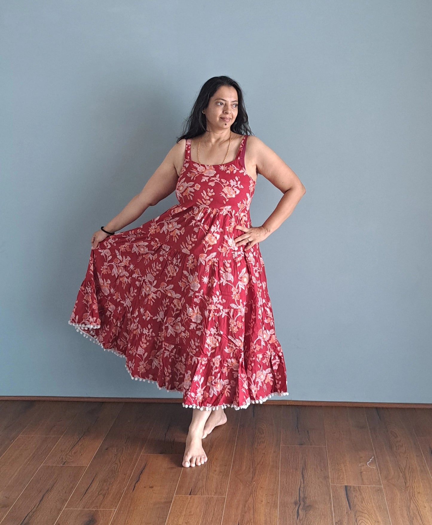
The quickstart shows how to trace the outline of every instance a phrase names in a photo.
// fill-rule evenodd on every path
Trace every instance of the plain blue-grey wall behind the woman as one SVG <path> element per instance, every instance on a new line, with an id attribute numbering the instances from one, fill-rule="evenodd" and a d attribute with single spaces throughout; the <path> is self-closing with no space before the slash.
<path id="1" fill-rule="evenodd" d="M 260 244 L 283 399 L 432 402 L 430 2 L 6 0 L 0 15 L 0 395 L 181 397 L 68 319 L 91 234 L 202 83 L 229 75 L 307 188 Z M 258 177 L 253 225 L 281 196 Z"/>

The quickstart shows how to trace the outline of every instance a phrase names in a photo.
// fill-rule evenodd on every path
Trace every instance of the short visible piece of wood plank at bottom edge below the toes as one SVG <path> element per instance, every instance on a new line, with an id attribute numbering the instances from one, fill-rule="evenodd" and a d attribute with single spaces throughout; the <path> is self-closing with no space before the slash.
<path id="1" fill-rule="evenodd" d="M 224 497 L 175 496 L 166 525 L 220 525 L 224 503 Z"/>

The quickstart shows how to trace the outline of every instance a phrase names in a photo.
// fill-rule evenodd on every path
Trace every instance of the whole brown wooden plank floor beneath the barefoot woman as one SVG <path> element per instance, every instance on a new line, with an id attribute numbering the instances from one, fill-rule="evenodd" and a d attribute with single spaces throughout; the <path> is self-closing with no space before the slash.
<path id="1" fill-rule="evenodd" d="M 431 525 L 432 411 L 0 401 L 1 525 Z"/>

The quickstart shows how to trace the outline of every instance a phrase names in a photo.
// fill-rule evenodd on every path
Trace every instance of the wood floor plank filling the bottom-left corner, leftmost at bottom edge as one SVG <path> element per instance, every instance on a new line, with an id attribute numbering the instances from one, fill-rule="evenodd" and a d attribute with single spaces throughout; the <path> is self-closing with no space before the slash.
<path id="1" fill-rule="evenodd" d="M 85 467 L 41 465 L 2 525 L 54 525 Z"/>

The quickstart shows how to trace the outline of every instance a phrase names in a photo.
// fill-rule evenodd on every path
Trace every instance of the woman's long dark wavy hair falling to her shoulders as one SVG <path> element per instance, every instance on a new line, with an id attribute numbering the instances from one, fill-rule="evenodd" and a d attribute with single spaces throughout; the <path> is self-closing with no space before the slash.
<path id="1" fill-rule="evenodd" d="M 238 113 L 235 121 L 231 125 L 231 130 L 241 135 L 252 135 L 244 107 L 242 88 L 239 86 L 239 83 L 232 78 L 222 75 L 220 77 L 209 78 L 209 80 L 203 84 L 197 100 L 195 104 L 193 104 L 190 115 L 185 124 L 183 124 L 183 134 L 177 139 L 177 142 L 181 139 L 193 139 L 193 137 L 198 137 L 198 135 L 202 135 L 207 130 L 207 119 L 204 113 L 202 113 L 202 110 L 207 108 L 210 98 L 221 86 L 232 86 L 237 91 L 237 100 L 239 101 L 239 106 L 237 106 Z"/>

